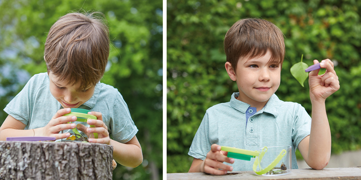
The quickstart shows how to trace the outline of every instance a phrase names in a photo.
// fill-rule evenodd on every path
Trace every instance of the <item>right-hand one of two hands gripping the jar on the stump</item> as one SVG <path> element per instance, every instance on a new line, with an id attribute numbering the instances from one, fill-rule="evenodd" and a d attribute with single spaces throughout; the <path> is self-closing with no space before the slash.
<path id="1" fill-rule="evenodd" d="M 95 127 L 86 127 L 82 124 L 78 124 L 77 129 L 83 131 L 89 137 L 88 141 L 90 143 L 103 143 L 112 145 L 110 143 L 108 127 L 104 124 L 101 113 L 92 111 L 88 112 L 88 114 L 96 116 L 97 120 L 89 119 L 87 121 L 88 125 L 95 125 Z M 94 138 L 93 133 L 98 133 L 98 139 Z"/>

